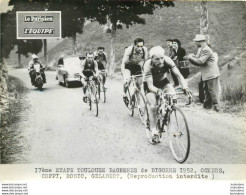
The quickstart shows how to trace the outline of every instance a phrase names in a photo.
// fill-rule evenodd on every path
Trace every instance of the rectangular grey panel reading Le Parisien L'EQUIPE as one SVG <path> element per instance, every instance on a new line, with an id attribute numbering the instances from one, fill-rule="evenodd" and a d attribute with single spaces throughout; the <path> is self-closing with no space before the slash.
<path id="1" fill-rule="evenodd" d="M 60 11 L 16 12 L 17 39 L 61 38 Z"/>

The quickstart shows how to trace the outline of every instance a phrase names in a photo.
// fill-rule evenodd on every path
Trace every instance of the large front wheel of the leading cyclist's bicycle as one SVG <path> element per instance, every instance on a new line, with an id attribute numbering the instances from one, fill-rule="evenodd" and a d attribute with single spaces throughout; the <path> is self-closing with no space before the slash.
<path id="1" fill-rule="evenodd" d="M 173 106 L 169 112 L 167 131 L 175 160 L 185 162 L 190 152 L 190 133 L 185 115 L 179 107 Z"/>

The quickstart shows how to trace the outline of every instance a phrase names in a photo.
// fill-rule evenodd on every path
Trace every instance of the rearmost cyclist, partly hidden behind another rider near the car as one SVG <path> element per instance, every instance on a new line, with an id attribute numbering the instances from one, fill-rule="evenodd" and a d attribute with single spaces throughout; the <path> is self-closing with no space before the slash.
<path id="1" fill-rule="evenodd" d="M 107 65 L 107 54 L 104 51 L 104 47 L 103 46 L 99 46 L 97 48 L 97 51 L 95 52 L 95 57 L 94 60 L 97 61 L 98 64 L 98 69 L 99 70 L 106 70 L 106 65 Z M 102 79 L 103 79 L 103 85 L 106 82 L 106 74 L 102 75 Z"/>

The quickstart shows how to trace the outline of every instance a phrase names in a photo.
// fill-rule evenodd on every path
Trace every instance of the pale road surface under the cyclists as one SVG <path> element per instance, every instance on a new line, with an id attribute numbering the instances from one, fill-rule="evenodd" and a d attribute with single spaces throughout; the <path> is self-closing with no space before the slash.
<path id="1" fill-rule="evenodd" d="M 39 91 L 26 70 L 9 74 L 24 81 L 28 107 L 10 128 L 20 138 L 10 163 L 176 163 L 167 141 L 148 143 L 138 116 L 130 117 L 121 97 L 121 83 L 108 80 L 107 102 L 99 104 L 99 117 L 82 102 L 81 87 L 58 85 L 55 72 Z M 186 163 L 246 163 L 246 130 L 242 118 L 209 114 L 197 105 L 184 108 L 191 133 Z"/>

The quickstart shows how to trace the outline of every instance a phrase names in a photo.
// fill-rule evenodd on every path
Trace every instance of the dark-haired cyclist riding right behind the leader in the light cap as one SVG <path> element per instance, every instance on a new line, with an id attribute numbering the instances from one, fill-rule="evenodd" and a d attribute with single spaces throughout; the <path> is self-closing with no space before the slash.
<path id="1" fill-rule="evenodd" d="M 144 40 L 137 38 L 134 40 L 134 45 L 125 48 L 125 53 L 121 63 L 121 72 L 123 75 L 123 100 L 127 104 L 129 101 L 126 96 L 127 84 L 131 75 L 137 75 L 142 73 L 142 66 L 144 61 L 147 60 L 148 50 L 144 46 Z M 142 78 L 138 78 L 136 85 L 140 88 Z"/>

